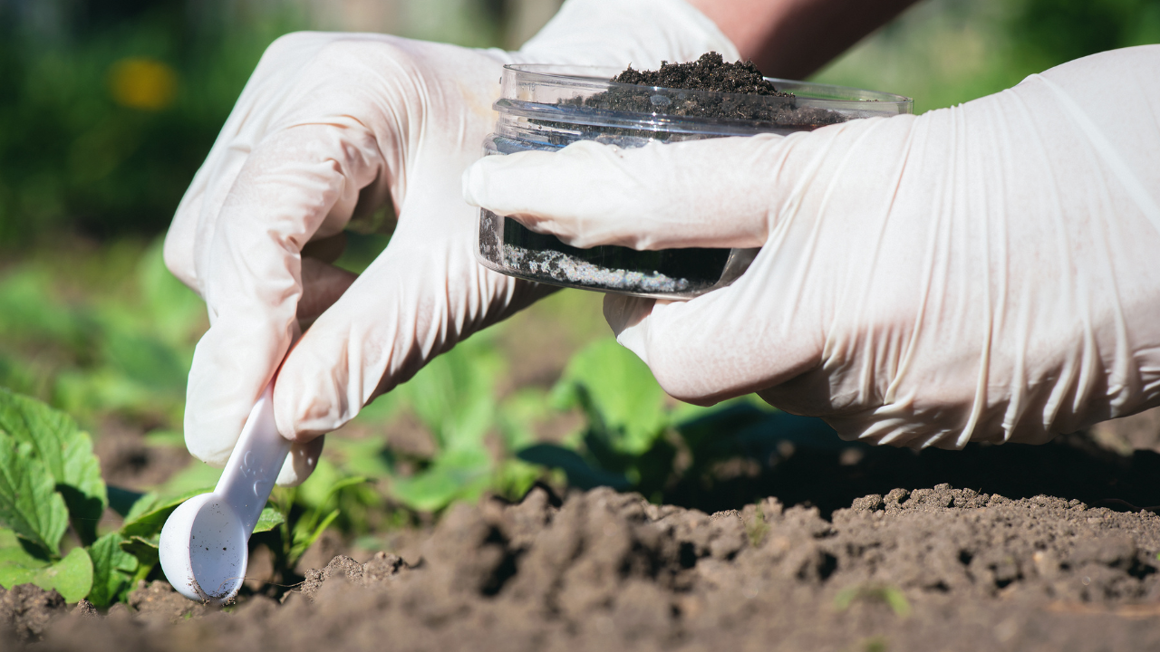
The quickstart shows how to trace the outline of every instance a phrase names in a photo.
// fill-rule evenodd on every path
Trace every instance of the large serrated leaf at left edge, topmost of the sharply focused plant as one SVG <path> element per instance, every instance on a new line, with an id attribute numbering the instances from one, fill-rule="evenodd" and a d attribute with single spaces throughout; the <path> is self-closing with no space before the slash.
<path id="1" fill-rule="evenodd" d="M 0 390 L 0 433 L 32 447 L 64 498 L 81 541 L 96 538 L 108 498 L 88 433 L 64 412 L 7 390 Z"/>

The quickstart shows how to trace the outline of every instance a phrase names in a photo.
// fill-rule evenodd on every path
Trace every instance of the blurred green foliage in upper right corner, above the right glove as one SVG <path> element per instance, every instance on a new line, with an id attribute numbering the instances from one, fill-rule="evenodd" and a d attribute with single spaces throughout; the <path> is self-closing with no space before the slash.
<path id="1" fill-rule="evenodd" d="M 908 95 L 922 113 L 1087 55 L 1158 42 L 1160 0 L 926 0 L 817 79 Z"/>

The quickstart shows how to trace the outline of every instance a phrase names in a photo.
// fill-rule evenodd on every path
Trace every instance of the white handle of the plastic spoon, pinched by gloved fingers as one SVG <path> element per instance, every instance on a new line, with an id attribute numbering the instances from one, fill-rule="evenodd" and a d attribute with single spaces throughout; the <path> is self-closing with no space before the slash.
<path id="1" fill-rule="evenodd" d="M 274 383 L 270 382 L 249 411 L 225 471 L 213 487 L 213 493 L 237 512 L 247 537 L 254 531 L 289 452 L 290 441 L 278 434 L 274 425 Z"/>

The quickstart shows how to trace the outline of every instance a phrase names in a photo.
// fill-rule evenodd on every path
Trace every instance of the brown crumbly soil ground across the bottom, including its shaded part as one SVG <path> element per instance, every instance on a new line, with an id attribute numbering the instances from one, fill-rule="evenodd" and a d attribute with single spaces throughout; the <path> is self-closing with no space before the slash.
<path id="1" fill-rule="evenodd" d="M 401 556 L 335 557 L 281 602 L 210 609 L 154 582 L 101 615 L 17 587 L 0 647 L 1160 649 L 1160 455 L 1095 440 L 799 447 L 694 497 L 705 510 L 536 487 L 451 509 Z M 740 487 L 771 497 L 708 513 Z"/>

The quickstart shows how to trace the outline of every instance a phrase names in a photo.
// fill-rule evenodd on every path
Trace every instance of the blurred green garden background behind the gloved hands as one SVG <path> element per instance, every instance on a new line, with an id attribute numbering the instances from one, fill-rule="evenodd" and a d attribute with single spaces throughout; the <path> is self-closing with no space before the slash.
<path id="1" fill-rule="evenodd" d="M 204 306 L 165 270 L 160 238 L 264 48 L 300 29 L 516 48 L 558 6 L 0 0 L 0 386 L 74 415 L 114 485 L 211 485 L 216 471 L 181 443 Z M 926 0 L 815 79 L 909 95 L 921 113 L 1158 41 L 1160 0 Z M 358 270 L 385 242 L 355 236 L 341 263 Z M 592 381 L 601 374 L 603 385 Z M 385 545 L 391 523 L 484 492 L 515 498 L 535 481 L 696 504 L 760 477 L 807 436 L 842 464 L 862 455 L 820 422 L 746 399 L 676 405 L 610 343 L 600 296 L 574 290 L 472 338 L 345 430 L 283 499 L 339 509 L 334 526 L 369 548 Z M 1131 441 L 1109 437 L 1130 452 Z M 756 491 L 728 486 L 739 487 L 730 500 Z"/>

